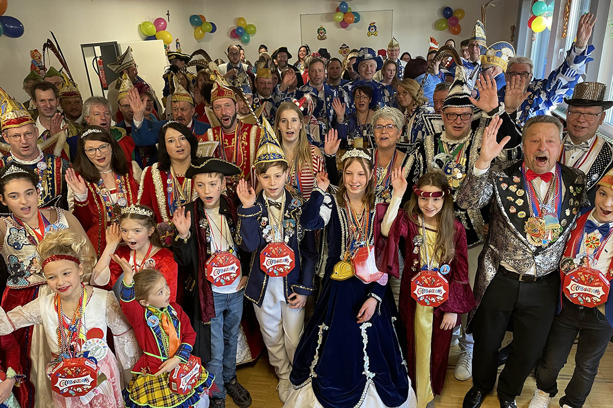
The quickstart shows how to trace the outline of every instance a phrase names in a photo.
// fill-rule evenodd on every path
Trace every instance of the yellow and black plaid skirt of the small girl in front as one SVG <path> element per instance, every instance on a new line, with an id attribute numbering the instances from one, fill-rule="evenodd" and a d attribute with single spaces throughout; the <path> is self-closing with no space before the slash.
<path id="1" fill-rule="evenodd" d="M 123 399 L 128 408 L 188 408 L 200 401 L 200 394 L 213 385 L 215 376 L 204 367 L 196 387 L 188 394 L 177 394 L 170 389 L 169 374 L 159 377 L 150 374 L 132 374 L 128 387 L 123 390 Z"/>

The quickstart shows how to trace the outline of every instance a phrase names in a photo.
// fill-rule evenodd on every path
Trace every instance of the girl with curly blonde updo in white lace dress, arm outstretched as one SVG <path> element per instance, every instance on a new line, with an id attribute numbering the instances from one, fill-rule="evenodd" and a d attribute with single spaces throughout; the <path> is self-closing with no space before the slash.
<path id="1" fill-rule="evenodd" d="M 42 325 L 48 347 L 56 359 L 47 366 L 47 373 L 59 363 L 58 357 L 63 360 L 72 354 L 78 356 L 89 351 L 89 355 L 96 358 L 97 371 L 106 378 L 103 380 L 98 376 L 97 390 L 90 391 L 88 401 L 53 392 L 54 407 L 121 406 L 123 383 L 118 361 L 123 368 L 128 368 L 140 353 L 134 332 L 112 292 L 82 283 L 83 275 L 91 273 L 92 251 L 84 237 L 68 229 L 48 232 L 38 251 L 41 270 L 51 293 L 7 313 L 0 309 L 0 335 L 7 335 L 20 327 Z M 107 344 L 107 327 L 113 333 L 118 358 Z"/>

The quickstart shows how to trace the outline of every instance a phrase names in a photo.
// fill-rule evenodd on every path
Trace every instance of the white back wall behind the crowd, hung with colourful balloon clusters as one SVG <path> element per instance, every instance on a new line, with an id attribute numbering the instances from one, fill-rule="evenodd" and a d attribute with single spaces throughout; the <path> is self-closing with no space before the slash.
<path id="1" fill-rule="evenodd" d="M 441 43 L 450 37 L 455 37 L 457 42 L 470 37 L 474 21 L 481 17 L 482 2 L 485 0 L 352 0 L 349 1 L 349 7 L 357 12 L 394 10 L 394 35 L 402 51 L 409 51 L 415 56 L 425 55 L 430 35 L 434 35 Z M 500 0 L 497 7 L 490 8 L 487 20 L 488 42 L 509 40 L 509 26 L 516 18 L 513 15 L 517 10 L 514 6 L 516 4 L 517 0 Z M 257 46 L 261 43 L 268 45 L 271 51 L 276 46 L 286 45 L 295 53 L 300 46 L 300 14 L 328 10 L 333 13 L 337 6 L 338 1 L 328 0 L 13 0 L 9 2 L 6 15 L 17 17 L 25 26 L 25 34 L 18 39 L 0 37 L 0 86 L 18 100 L 26 99 L 21 84 L 29 72 L 29 50 L 42 50 L 42 43 L 50 37 L 49 30 L 55 33 L 75 81 L 83 96 L 87 97 L 89 88 L 80 44 L 140 40 L 141 21 L 166 18 L 166 10 L 170 10 L 167 31 L 173 37 L 178 37 L 183 52 L 191 53 L 197 48 L 204 48 L 211 57 L 223 57 L 224 60 L 226 57 L 223 51 L 229 43 L 235 42 L 229 37 L 230 28 L 234 28 L 237 17 L 245 17 L 248 23 L 257 27 L 256 35 L 245 47 L 247 58 L 253 61 L 257 57 Z M 453 36 L 448 31 L 435 30 L 434 22 L 442 18 L 441 9 L 444 6 L 465 10 L 466 17 L 460 21 L 460 35 Z M 189 16 L 195 13 L 213 21 L 217 32 L 205 35 L 202 40 L 195 40 L 189 25 Z M 368 23 L 364 20 L 359 23 L 365 24 L 364 32 Z M 329 29 L 328 35 L 333 35 L 332 29 Z M 380 41 L 379 48 L 386 48 L 389 39 L 381 37 Z M 359 37 L 356 42 L 359 43 Z M 311 49 L 319 48 L 315 43 L 309 45 Z M 173 42 L 172 50 L 174 48 Z M 338 56 L 337 50 L 328 51 Z M 51 64 L 47 65 L 57 65 L 55 57 L 51 56 L 50 61 Z M 161 92 L 158 89 L 156 91 Z"/>

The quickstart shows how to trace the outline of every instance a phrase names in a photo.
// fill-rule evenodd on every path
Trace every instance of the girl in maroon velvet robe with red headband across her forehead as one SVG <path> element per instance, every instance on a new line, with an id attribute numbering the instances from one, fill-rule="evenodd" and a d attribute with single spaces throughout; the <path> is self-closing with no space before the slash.
<path id="1" fill-rule="evenodd" d="M 398 174 L 392 176 L 392 182 Z M 406 184 L 403 185 L 403 192 Z M 466 232 L 454 215 L 451 188 L 441 171 L 427 172 L 413 186 L 413 195 L 398 214 L 400 191 L 394 197 L 381 225 L 381 234 L 388 236 L 383 264 L 398 269 L 398 239 L 405 237 L 405 268 L 400 283 L 400 319 L 406 330 L 406 363 L 411 382 L 417 391 L 417 407 L 424 408 L 441 394 L 447 373 L 452 329 L 458 317 L 474 307 L 473 292 L 468 283 Z M 392 225 L 398 215 L 400 222 Z M 434 271 L 436 277 L 424 275 Z M 422 274 L 423 278 L 417 276 Z M 412 297 L 424 282 L 441 284 L 447 281 L 448 299 Z M 428 286 L 428 283 L 425 283 Z M 444 287 L 444 286 L 443 286 Z M 419 356 L 419 358 L 417 358 Z"/>

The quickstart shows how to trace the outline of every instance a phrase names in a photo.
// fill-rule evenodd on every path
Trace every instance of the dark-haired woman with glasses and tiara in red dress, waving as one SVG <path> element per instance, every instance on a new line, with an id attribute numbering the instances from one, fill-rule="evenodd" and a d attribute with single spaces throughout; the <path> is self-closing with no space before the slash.
<path id="1" fill-rule="evenodd" d="M 100 256 L 106 245 L 105 231 L 122 207 L 136 204 L 136 180 L 142 174 L 126 157 L 115 138 L 103 127 L 83 128 L 77 141 L 74 169 L 66 171 L 66 183 L 75 196 L 74 213 Z"/>

